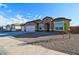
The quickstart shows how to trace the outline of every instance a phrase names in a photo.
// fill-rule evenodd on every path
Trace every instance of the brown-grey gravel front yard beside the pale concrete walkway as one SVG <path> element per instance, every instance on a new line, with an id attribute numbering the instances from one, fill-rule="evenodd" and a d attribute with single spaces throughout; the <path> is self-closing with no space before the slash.
<path id="1" fill-rule="evenodd" d="M 42 33 L 40 33 L 42 34 Z M 45 34 L 45 33 L 44 33 Z M 71 39 L 68 38 L 67 35 L 45 35 L 45 36 L 35 36 L 30 34 L 28 37 L 27 34 L 24 34 L 25 37 L 14 37 L 17 40 L 24 41 L 25 43 L 20 43 L 19 45 L 27 46 L 27 45 L 36 45 L 42 46 L 46 49 L 56 50 L 63 53 L 68 54 L 79 54 L 79 34 L 71 34 Z M 63 38 L 65 37 L 65 38 Z"/>

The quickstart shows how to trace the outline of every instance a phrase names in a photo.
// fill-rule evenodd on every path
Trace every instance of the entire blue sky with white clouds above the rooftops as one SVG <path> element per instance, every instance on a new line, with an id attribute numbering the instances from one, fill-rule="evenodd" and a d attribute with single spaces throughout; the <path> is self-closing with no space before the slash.
<path id="1" fill-rule="evenodd" d="M 3 3 L 0 4 L 0 25 L 25 23 L 45 16 L 72 19 L 79 25 L 79 4 L 75 3 Z"/>

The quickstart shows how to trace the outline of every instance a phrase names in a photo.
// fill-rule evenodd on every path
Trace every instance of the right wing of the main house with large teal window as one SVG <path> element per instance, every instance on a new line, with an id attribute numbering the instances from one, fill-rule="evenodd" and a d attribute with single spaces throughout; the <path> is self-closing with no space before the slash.
<path id="1" fill-rule="evenodd" d="M 59 17 L 54 19 L 54 31 L 68 32 L 70 30 L 71 19 Z"/>

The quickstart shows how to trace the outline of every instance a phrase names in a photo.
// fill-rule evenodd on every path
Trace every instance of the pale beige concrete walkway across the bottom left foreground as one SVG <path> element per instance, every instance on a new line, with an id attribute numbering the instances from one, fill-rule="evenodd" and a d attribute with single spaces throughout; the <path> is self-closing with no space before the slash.
<path id="1" fill-rule="evenodd" d="M 0 54 L 1 55 L 67 55 L 62 52 L 46 49 L 37 45 L 19 45 L 24 43 L 10 37 L 0 37 Z"/>

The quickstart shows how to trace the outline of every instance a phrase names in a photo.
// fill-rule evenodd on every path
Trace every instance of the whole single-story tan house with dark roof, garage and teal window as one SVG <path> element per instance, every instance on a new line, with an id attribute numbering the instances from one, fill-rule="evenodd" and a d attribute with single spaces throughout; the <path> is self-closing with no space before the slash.
<path id="1" fill-rule="evenodd" d="M 37 19 L 34 21 L 26 22 L 21 25 L 22 31 L 35 32 L 35 31 L 64 31 L 69 30 L 71 19 L 59 17 L 53 19 L 52 17 L 46 16 L 43 20 Z"/>

